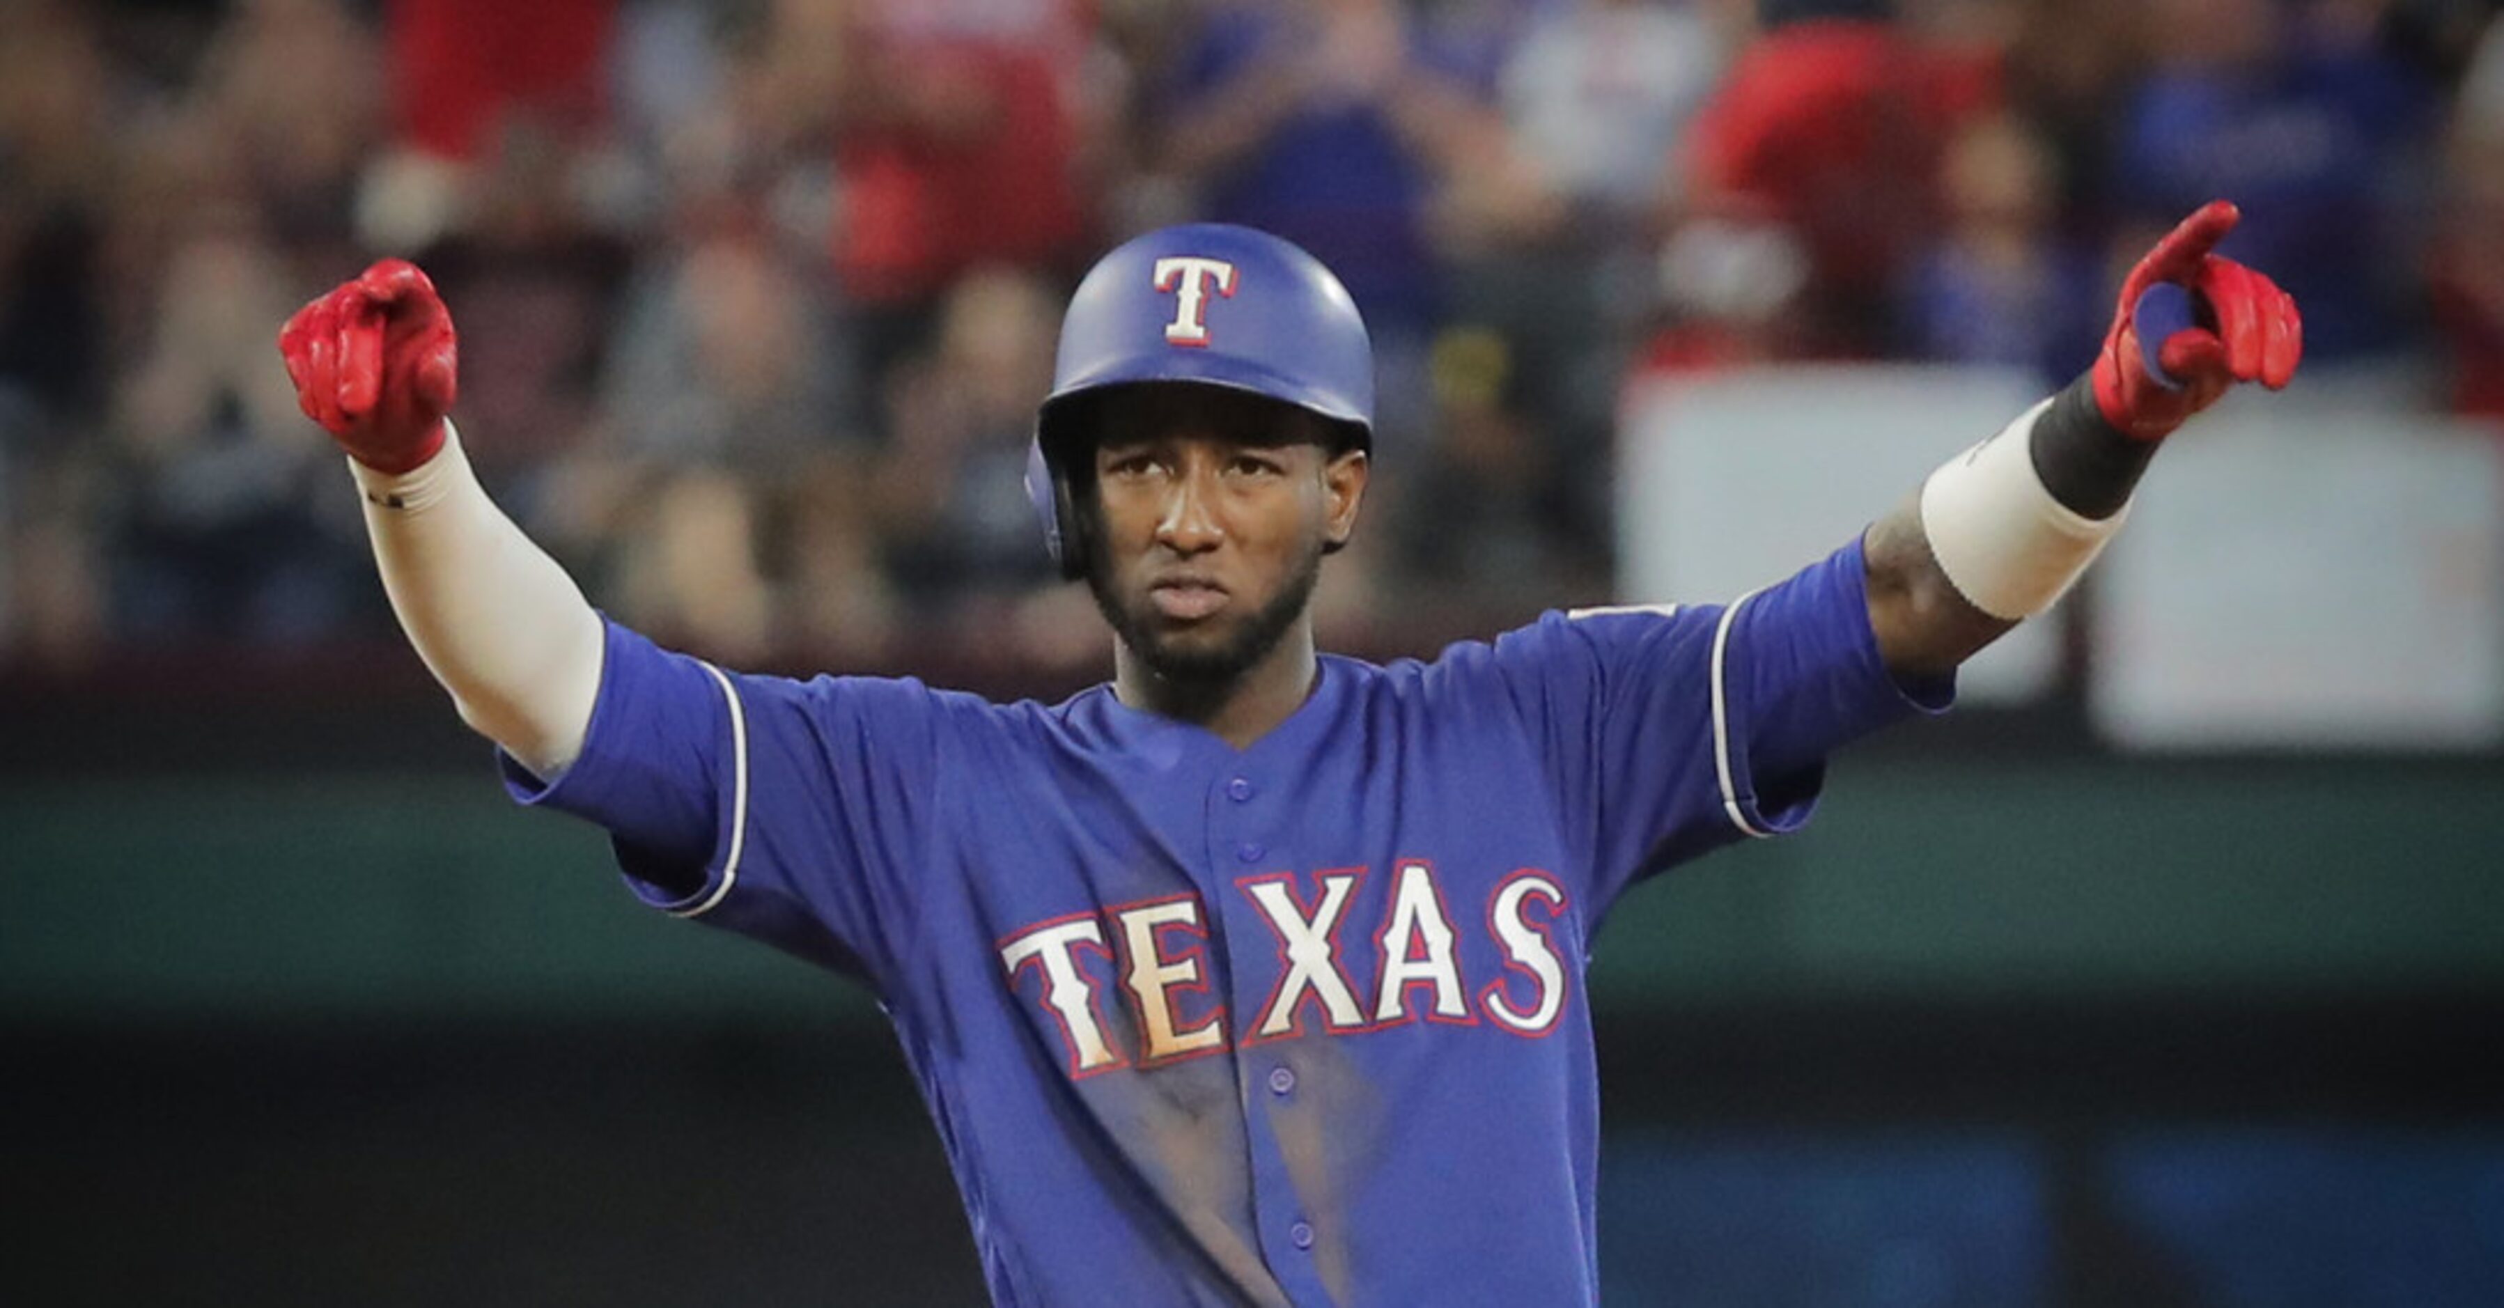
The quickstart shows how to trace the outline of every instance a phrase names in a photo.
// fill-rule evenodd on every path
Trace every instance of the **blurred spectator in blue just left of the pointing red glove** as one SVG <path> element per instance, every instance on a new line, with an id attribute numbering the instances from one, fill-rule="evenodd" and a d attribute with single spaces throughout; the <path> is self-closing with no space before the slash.
<path id="1" fill-rule="evenodd" d="M 1953 363 L 2003 363 L 2043 388 L 2078 376 L 2103 338 L 2103 268 L 2056 226 L 2051 143 L 2013 115 L 1966 125 L 1943 170 L 1946 231 L 1913 271 L 1916 348 Z"/>

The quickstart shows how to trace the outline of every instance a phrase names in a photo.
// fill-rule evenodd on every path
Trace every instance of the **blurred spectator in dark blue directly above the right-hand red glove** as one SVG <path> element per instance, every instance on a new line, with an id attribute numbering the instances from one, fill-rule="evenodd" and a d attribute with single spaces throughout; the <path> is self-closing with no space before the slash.
<path id="1" fill-rule="evenodd" d="M 2304 306 L 2306 376 L 2409 346 L 2436 100 L 2344 0 L 2148 0 L 2151 75 L 2121 115 L 2113 193 L 2136 251 L 2211 198 L 2224 253 Z"/>

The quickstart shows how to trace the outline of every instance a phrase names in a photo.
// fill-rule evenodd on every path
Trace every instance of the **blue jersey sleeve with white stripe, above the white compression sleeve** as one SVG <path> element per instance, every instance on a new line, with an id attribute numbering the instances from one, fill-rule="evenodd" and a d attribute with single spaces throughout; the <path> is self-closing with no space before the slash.
<path id="1" fill-rule="evenodd" d="M 724 672 L 608 624 L 581 757 L 513 799 L 608 829 L 634 895 L 871 985 L 911 932 L 936 709 L 919 682 Z"/>

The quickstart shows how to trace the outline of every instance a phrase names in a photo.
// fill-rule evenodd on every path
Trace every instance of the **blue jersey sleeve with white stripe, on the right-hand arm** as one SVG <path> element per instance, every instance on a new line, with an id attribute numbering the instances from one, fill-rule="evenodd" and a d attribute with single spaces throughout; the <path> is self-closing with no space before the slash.
<path id="1" fill-rule="evenodd" d="M 1953 677 L 1888 674 L 1858 539 L 1730 604 L 1547 614 L 1500 639 L 1497 662 L 1537 724 L 1595 905 L 1798 829 L 1835 747 L 1956 697 Z"/>

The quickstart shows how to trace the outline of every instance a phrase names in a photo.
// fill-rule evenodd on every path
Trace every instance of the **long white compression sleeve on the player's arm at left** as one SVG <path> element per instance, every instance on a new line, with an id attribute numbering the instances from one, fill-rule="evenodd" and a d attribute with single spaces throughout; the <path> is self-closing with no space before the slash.
<path id="1" fill-rule="evenodd" d="M 408 644 L 461 719 L 541 779 L 583 749 L 601 689 L 601 616 L 566 569 L 503 516 L 446 423 L 408 474 L 356 459 L 373 561 Z"/>

